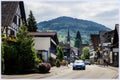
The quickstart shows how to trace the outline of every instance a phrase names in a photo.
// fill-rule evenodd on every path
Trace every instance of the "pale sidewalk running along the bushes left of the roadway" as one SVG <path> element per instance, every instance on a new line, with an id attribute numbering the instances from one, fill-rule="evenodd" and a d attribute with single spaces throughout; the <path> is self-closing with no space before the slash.
<path id="1" fill-rule="evenodd" d="M 1 79 L 42 79 L 45 77 L 57 75 L 64 72 L 64 70 L 69 69 L 67 66 L 61 67 L 51 67 L 49 73 L 31 73 L 31 74 L 22 74 L 22 75 L 1 75 Z"/>

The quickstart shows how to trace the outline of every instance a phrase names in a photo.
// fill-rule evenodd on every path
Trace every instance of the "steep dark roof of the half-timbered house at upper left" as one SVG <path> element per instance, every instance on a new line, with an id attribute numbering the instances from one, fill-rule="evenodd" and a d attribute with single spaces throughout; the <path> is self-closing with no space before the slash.
<path id="1" fill-rule="evenodd" d="M 14 14 L 17 10 L 18 5 L 20 5 L 22 20 L 24 19 L 24 21 L 26 22 L 23 1 L 2 1 L 1 2 L 2 26 L 9 26 L 13 22 Z"/>

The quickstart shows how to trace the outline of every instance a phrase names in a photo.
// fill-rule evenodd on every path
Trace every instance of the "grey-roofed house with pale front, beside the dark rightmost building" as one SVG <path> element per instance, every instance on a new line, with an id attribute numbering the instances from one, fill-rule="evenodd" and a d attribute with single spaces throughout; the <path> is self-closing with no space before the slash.
<path id="1" fill-rule="evenodd" d="M 113 36 L 114 36 L 114 30 L 111 31 L 100 31 L 100 49 L 101 49 L 101 59 L 103 64 L 103 59 L 108 60 L 109 63 L 111 61 L 109 60 L 109 55 L 111 52 L 111 45 L 113 43 Z"/>

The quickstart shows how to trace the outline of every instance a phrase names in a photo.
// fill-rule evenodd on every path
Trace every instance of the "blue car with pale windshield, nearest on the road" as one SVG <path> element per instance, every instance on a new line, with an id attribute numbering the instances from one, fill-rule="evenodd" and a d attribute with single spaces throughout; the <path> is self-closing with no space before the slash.
<path id="1" fill-rule="evenodd" d="M 85 70 L 85 63 L 83 60 L 75 60 L 75 62 L 73 63 L 73 70 L 76 70 L 76 69 L 82 69 L 82 70 Z"/>

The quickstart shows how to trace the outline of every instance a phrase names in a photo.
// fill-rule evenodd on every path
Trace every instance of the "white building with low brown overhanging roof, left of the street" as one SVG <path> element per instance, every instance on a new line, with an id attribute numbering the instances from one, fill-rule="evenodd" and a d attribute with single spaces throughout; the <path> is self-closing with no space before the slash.
<path id="1" fill-rule="evenodd" d="M 38 57 L 45 62 L 49 62 L 50 58 L 56 58 L 56 47 L 59 43 L 56 32 L 30 32 L 34 37 L 35 46 Z"/>

